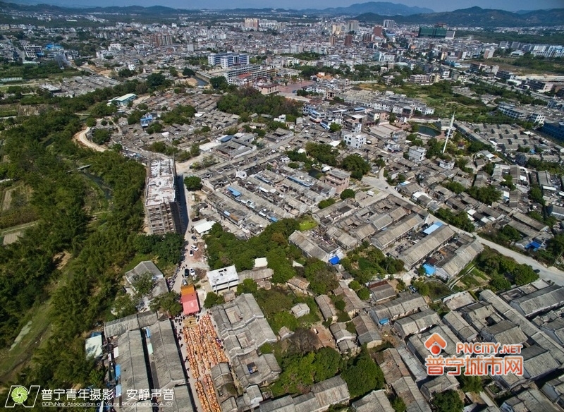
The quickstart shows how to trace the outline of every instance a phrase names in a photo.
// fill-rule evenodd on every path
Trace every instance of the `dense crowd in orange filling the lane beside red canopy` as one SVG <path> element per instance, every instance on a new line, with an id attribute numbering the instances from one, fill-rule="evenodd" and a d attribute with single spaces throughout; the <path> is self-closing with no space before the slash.
<path id="1" fill-rule="evenodd" d="M 195 327 L 183 329 L 186 353 L 192 377 L 196 382 L 196 392 L 204 412 L 221 412 L 212 377 L 209 370 L 220 362 L 227 362 L 227 356 L 218 339 L 212 319 L 204 315 Z M 200 382 L 203 375 L 204 384 Z"/>

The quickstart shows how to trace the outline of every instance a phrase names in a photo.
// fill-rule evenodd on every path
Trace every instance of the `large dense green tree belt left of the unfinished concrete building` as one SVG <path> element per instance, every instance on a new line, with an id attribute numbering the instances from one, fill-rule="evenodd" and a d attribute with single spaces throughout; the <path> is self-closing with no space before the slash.
<path id="1" fill-rule="evenodd" d="M 71 387 L 102 384 L 94 363 L 86 360 L 82 333 L 104 320 L 116 296 L 118 269 L 133 257 L 133 241 L 142 225 L 145 169 L 120 154 L 90 152 L 72 142 L 80 130 L 68 111 L 48 111 L 3 132 L 14 178 L 33 188 L 31 204 L 39 222 L 20 241 L 0 250 L 0 344 L 7 346 L 20 322 L 37 302 L 49 298 L 51 281 L 65 280 L 51 295 L 51 334 L 35 351 L 35 362 L 18 378 L 22 384 Z M 93 220 L 96 195 L 78 165 L 111 190 L 111 210 Z M 71 267 L 57 269 L 54 256 L 68 251 Z"/>

